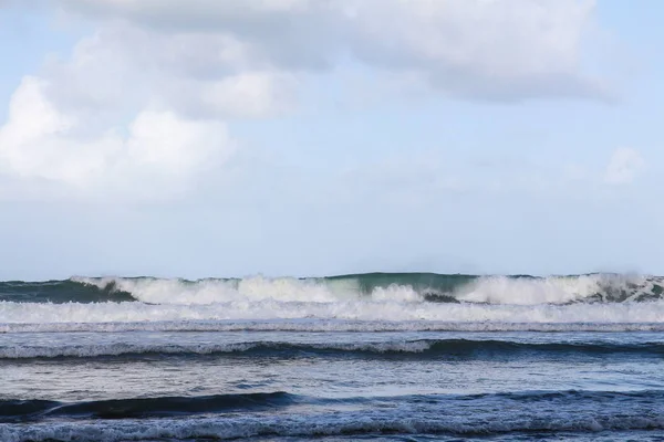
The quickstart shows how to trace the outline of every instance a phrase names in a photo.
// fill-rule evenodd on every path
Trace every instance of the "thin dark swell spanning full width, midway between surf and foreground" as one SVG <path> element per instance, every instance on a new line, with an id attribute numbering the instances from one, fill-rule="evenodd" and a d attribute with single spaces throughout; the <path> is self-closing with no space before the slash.
<path id="1" fill-rule="evenodd" d="M 122 357 L 141 359 L 155 356 L 241 356 L 241 357 L 407 357 L 407 358 L 505 358 L 523 356 L 632 356 L 661 357 L 664 343 L 613 344 L 613 343 L 519 343 L 496 339 L 417 339 L 381 343 L 349 344 L 291 344 L 256 341 L 237 344 L 145 345 L 100 344 L 75 346 L 3 346 L 0 360 L 41 358 L 100 358 Z"/>

